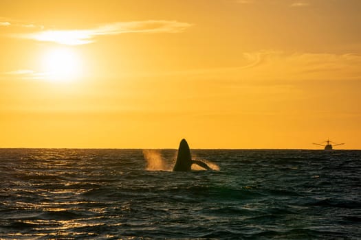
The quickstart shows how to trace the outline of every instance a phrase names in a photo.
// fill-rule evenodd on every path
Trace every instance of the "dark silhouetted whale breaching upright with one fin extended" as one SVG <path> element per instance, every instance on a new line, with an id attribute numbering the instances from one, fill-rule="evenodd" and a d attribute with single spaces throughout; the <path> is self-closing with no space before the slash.
<path id="1" fill-rule="evenodd" d="M 199 160 L 192 160 L 190 149 L 186 139 L 182 139 L 179 143 L 177 161 L 173 167 L 173 171 L 190 171 L 193 164 L 197 164 L 207 170 L 212 170 L 206 163 Z"/>

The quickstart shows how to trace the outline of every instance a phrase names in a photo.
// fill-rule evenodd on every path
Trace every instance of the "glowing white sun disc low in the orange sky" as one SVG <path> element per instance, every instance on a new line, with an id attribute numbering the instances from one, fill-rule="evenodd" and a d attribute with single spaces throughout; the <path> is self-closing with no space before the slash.
<path id="1" fill-rule="evenodd" d="M 43 56 L 43 71 L 49 80 L 71 81 L 80 75 L 80 60 L 72 49 L 51 49 Z"/>

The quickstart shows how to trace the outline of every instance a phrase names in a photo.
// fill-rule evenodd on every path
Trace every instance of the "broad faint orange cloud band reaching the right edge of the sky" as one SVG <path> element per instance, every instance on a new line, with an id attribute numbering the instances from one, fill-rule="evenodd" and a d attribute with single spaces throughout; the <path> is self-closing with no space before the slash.
<path id="1" fill-rule="evenodd" d="M 353 53 L 284 53 L 265 50 L 243 53 L 239 67 L 195 69 L 183 72 L 162 72 L 159 76 L 174 79 L 204 80 L 207 84 L 292 83 L 303 81 L 361 80 L 361 56 Z"/>

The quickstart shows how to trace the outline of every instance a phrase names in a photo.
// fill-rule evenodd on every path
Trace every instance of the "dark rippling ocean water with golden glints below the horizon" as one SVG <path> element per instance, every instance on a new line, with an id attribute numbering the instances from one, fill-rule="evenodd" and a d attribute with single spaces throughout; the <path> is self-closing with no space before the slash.
<path id="1" fill-rule="evenodd" d="M 361 151 L 192 153 L 0 149 L 0 239 L 361 239 Z"/>

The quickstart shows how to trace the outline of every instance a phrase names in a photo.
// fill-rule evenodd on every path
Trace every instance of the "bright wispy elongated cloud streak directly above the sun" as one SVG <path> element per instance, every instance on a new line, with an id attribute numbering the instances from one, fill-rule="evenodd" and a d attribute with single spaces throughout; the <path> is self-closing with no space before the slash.
<path id="1" fill-rule="evenodd" d="M 192 24 L 178 21 L 149 20 L 109 23 L 91 29 L 45 30 L 30 34 L 12 34 L 12 36 L 64 45 L 84 45 L 93 43 L 97 36 L 127 33 L 179 33 L 190 26 Z"/>

